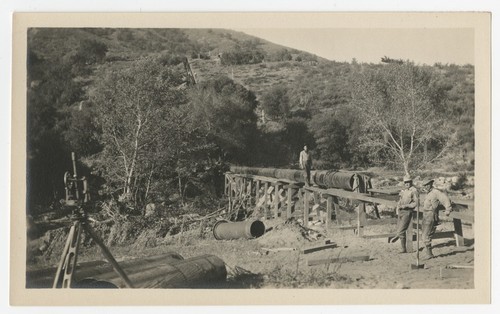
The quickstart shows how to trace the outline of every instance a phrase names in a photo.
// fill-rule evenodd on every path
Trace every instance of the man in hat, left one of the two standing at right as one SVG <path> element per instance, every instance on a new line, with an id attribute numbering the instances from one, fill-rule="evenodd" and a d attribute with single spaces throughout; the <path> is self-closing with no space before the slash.
<path id="1" fill-rule="evenodd" d="M 398 212 L 398 230 L 396 236 L 401 240 L 401 253 L 406 253 L 406 230 L 411 222 L 413 210 L 418 206 L 418 190 L 413 186 L 410 175 L 403 178 L 405 188 L 399 192 L 399 201 L 396 207 Z"/>

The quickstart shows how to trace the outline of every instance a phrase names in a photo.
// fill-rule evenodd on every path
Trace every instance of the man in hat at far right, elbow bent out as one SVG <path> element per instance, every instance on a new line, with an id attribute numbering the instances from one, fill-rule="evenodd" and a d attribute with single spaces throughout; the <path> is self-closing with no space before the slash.
<path id="1" fill-rule="evenodd" d="M 425 244 L 426 258 L 433 258 L 431 241 L 434 232 L 436 232 L 436 226 L 439 224 L 439 209 L 445 209 L 445 215 L 450 215 L 451 200 L 444 192 L 435 189 L 433 187 L 434 180 L 427 180 L 424 182 L 423 190 L 427 192 L 424 200 L 423 214 L 424 219 L 422 221 L 422 238 Z"/>

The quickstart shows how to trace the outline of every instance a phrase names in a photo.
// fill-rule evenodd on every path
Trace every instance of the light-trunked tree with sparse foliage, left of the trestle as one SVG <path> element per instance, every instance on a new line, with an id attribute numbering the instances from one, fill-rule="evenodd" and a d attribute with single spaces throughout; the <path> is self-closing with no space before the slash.
<path id="1" fill-rule="evenodd" d="M 122 198 L 137 195 L 145 176 L 149 192 L 158 141 L 172 123 L 172 107 L 183 102 L 177 77 L 159 62 L 145 59 L 110 71 L 91 93 L 102 130 L 100 163 Z"/>

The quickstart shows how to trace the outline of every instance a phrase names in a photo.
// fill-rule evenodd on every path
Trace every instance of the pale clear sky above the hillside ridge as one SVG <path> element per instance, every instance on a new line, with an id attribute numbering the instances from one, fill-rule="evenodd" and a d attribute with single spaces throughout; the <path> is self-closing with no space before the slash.
<path id="1" fill-rule="evenodd" d="M 474 64 L 473 29 L 237 29 L 270 42 L 351 62 L 379 63 L 383 56 L 418 64 Z"/>

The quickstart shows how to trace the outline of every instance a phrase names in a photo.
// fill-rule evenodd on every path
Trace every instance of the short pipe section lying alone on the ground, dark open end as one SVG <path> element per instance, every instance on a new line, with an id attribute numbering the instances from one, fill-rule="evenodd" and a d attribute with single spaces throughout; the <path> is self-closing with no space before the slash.
<path id="1" fill-rule="evenodd" d="M 258 238 L 266 232 L 264 223 L 260 220 L 248 220 L 228 222 L 220 220 L 213 228 L 214 237 L 217 240 L 253 239 Z"/>

